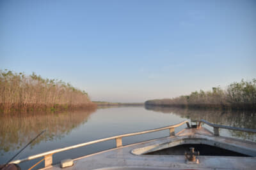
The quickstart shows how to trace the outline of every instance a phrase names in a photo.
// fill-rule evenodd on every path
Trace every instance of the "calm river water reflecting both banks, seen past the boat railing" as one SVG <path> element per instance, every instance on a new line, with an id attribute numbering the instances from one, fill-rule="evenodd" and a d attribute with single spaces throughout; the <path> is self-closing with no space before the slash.
<path id="1" fill-rule="evenodd" d="M 213 124 L 256 129 L 255 111 L 232 112 L 129 106 L 98 108 L 93 111 L 0 115 L 0 164 L 6 163 L 44 129 L 46 132 L 20 153 L 15 160 L 95 139 L 164 127 L 184 120 L 200 119 L 205 119 Z M 176 128 L 175 132 L 179 132 L 184 127 L 186 125 Z M 207 125 L 204 127 L 212 131 L 212 127 Z M 166 130 L 126 137 L 123 138 L 123 145 L 168 135 L 169 131 Z M 245 132 L 221 129 L 220 135 L 256 141 L 255 134 Z M 115 148 L 114 140 L 56 153 L 53 155 L 53 162 L 60 162 L 67 158 L 73 159 L 109 148 Z M 38 160 L 40 159 L 21 163 L 20 167 L 28 169 Z M 35 169 L 43 166 L 42 162 Z"/>

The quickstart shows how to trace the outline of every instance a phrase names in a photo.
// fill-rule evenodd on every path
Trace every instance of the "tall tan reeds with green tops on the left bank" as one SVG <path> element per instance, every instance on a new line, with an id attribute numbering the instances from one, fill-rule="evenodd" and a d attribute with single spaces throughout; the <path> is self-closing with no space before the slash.
<path id="1" fill-rule="evenodd" d="M 93 108 L 88 94 L 56 79 L 44 79 L 35 73 L 0 70 L 0 112 L 58 111 Z"/>

